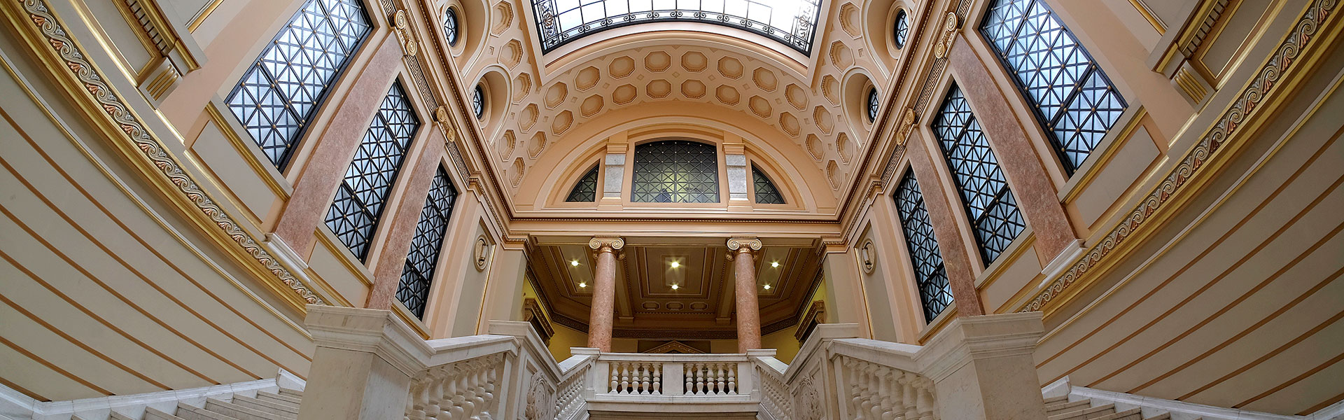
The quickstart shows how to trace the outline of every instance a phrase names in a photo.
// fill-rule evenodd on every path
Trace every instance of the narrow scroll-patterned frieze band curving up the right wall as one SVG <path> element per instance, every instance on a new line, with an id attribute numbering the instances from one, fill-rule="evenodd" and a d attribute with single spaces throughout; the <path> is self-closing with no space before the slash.
<path id="1" fill-rule="evenodd" d="M 1172 171 L 1163 179 L 1149 195 L 1145 198 L 1136 209 L 1129 213 L 1118 226 L 1111 229 L 1111 232 L 1099 244 L 1087 250 L 1087 253 L 1073 264 L 1068 271 L 1060 277 L 1051 281 L 1048 287 L 1036 293 L 1036 298 L 1031 300 L 1019 312 L 1040 311 L 1055 299 L 1060 292 L 1071 287 L 1078 281 L 1089 269 L 1095 267 L 1110 254 L 1117 246 L 1125 242 L 1125 240 L 1148 221 L 1153 214 L 1161 209 L 1163 205 L 1171 201 L 1173 195 L 1181 193 L 1181 187 L 1189 182 L 1200 168 L 1204 167 L 1210 159 L 1212 159 L 1226 144 L 1226 141 L 1236 132 L 1236 129 L 1246 121 L 1246 117 L 1255 110 L 1255 108 L 1266 98 L 1269 92 L 1278 85 L 1279 78 L 1288 73 L 1289 67 L 1297 62 L 1298 55 L 1306 48 L 1308 43 L 1312 42 L 1321 23 L 1328 19 L 1337 0 L 1316 0 L 1298 19 L 1297 24 L 1293 26 L 1293 31 L 1289 34 L 1284 43 L 1278 46 L 1274 54 L 1269 58 L 1269 62 L 1262 67 L 1254 79 L 1246 86 L 1245 90 L 1236 97 L 1236 101 L 1223 112 L 1223 116 L 1214 124 L 1212 129 L 1200 139 L 1199 144 L 1195 145 L 1185 158 L 1181 159 Z"/>

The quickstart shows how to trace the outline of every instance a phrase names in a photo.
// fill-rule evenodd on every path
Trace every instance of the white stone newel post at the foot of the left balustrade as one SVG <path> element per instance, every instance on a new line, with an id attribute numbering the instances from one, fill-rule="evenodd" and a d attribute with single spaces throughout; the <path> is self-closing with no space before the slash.
<path id="1" fill-rule="evenodd" d="M 421 338 L 391 311 L 308 306 L 313 351 L 300 420 L 406 416 L 411 358 Z"/>

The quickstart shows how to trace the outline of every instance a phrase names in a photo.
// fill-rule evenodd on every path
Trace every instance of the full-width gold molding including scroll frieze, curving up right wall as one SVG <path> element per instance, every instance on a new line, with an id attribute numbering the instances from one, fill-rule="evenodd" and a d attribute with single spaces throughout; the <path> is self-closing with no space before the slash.
<path id="1" fill-rule="evenodd" d="M 1107 273 L 1118 261 L 1106 258 L 1110 254 L 1124 254 L 1137 244 L 1150 237 L 1156 228 L 1161 226 L 1175 213 L 1184 207 L 1193 195 L 1208 184 L 1212 174 L 1230 162 L 1230 156 L 1241 149 L 1247 141 L 1254 128 L 1265 124 L 1266 113 L 1271 113 L 1286 101 L 1285 96 L 1274 96 L 1301 83 L 1304 71 L 1298 70 L 1302 62 L 1316 62 L 1322 55 L 1322 48 L 1314 48 L 1310 54 L 1302 55 L 1308 47 L 1316 46 L 1313 40 L 1321 38 L 1331 39 L 1339 34 L 1340 28 L 1333 23 L 1336 0 L 1316 0 L 1308 7 L 1297 24 L 1293 26 L 1282 43 L 1270 55 L 1255 77 L 1246 82 L 1236 100 L 1222 113 L 1222 117 L 1203 135 L 1189 152 L 1176 164 L 1171 172 L 1149 190 L 1129 217 L 1120 221 L 1106 237 L 1091 246 L 1082 257 L 1075 260 L 1068 271 L 1042 289 L 1024 307 L 1021 312 L 1043 311 L 1048 319 L 1073 298 L 1087 289 L 1097 279 Z M 1327 31 L 1321 31 L 1327 30 Z M 1310 66 L 1308 66 L 1310 67 Z M 1292 75 L 1285 78 L 1285 75 Z M 1288 86 L 1288 88 L 1285 88 Z M 1266 98 L 1273 98 L 1266 102 Z M 1265 102 L 1265 104 L 1262 104 Z M 1270 110 L 1265 110 L 1270 109 Z M 1251 118 L 1254 117 L 1254 118 Z M 1250 125 L 1249 129 L 1241 129 Z M 1228 152 L 1231 149 L 1231 152 Z M 1176 209 L 1176 210 L 1171 210 Z"/>

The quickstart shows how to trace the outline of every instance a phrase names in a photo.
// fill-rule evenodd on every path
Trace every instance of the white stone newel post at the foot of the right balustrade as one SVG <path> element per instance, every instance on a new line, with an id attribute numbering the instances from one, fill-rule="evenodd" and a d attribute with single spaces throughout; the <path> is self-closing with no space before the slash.
<path id="1" fill-rule="evenodd" d="M 1046 419 L 1032 353 L 1046 327 L 1040 312 L 962 316 L 923 349 L 939 417 Z"/>

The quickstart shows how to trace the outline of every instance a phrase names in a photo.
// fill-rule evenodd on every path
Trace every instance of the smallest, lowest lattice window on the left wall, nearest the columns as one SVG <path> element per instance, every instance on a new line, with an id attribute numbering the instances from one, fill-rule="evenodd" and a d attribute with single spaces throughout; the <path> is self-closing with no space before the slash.
<path id="1" fill-rule="evenodd" d="M 430 183 L 425 207 L 421 209 L 419 222 L 415 223 L 415 237 L 411 238 L 411 250 L 406 254 L 406 265 L 402 267 L 402 280 L 396 284 L 396 300 L 421 319 L 425 319 L 429 287 L 434 281 L 438 252 L 444 248 L 444 236 L 448 232 L 448 221 L 453 217 L 456 201 L 457 188 L 453 187 L 453 180 L 448 179 L 444 167 L 439 167 Z"/>

